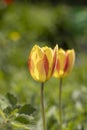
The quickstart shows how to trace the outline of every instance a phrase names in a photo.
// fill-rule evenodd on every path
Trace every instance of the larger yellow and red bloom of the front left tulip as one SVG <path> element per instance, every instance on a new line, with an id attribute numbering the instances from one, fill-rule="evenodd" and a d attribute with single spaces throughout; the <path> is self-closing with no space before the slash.
<path id="1" fill-rule="evenodd" d="M 51 78 L 57 59 L 58 46 L 53 49 L 45 46 L 40 48 L 34 45 L 28 59 L 28 68 L 31 76 L 40 82 Z"/>

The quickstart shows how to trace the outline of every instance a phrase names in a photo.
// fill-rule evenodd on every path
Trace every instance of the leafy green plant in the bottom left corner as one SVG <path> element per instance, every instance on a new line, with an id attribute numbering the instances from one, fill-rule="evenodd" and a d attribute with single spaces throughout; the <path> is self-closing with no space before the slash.
<path id="1" fill-rule="evenodd" d="M 6 94 L 8 100 L 7 107 L 0 109 L 0 129 L 32 129 L 34 125 L 33 113 L 36 111 L 30 104 L 21 105 L 17 98 L 11 94 Z"/>

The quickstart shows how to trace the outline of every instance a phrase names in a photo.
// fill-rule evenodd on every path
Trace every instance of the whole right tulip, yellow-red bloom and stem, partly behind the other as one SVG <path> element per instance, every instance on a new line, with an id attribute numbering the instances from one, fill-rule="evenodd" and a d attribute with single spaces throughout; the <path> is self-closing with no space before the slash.
<path id="1" fill-rule="evenodd" d="M 60 78 L 59 81 L 59 122 L 62 130 L 62 78 L 66 77 L 72 71 L 75 61 L 75 51 L 73 49 L 64 51 L 59 49 L 57 63 L 54 70 L 54 77 Z"/>

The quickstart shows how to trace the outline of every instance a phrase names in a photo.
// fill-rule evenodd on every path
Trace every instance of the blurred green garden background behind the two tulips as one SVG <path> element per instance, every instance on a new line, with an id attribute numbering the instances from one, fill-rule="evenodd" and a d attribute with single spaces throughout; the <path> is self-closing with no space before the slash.
<path id="1" fill-rule="evenodd" d="M 75 49 L 74 69 L 63 80 L 63 130 L 87 130 L 86 1 L 0 1 L 0 97 L 11 92 L 20 103 L 35 106 L 41 130 L 40 83 L 31 78 L 27 64 L 35 44 Z M 58 130 L 58 83 L 51 78 L 45 84 L 48 130 Z M 5 107 L 2 98 L 0 107 Z"/>

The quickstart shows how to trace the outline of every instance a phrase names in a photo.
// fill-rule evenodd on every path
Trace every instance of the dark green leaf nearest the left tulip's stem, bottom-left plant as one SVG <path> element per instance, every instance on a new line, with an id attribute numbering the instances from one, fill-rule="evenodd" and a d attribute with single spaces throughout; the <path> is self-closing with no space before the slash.
<path id="1" fill-rule="evenodd" d="M 18 113 L 20 114 L 26 114 L 26 115 L 31 115 L 36 111 L 35 108 L 33 108 L 30 104 L 25 104 L 24 106 L 22 106 Z"/>

